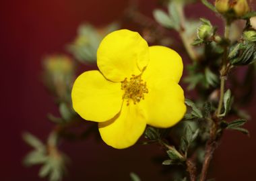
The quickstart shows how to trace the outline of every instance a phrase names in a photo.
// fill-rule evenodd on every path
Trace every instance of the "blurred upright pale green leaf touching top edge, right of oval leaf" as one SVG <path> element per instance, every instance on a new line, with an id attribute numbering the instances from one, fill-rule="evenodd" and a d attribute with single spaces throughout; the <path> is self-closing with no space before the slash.
<path id="1" fill-rule="evenodd" d="M 181 8 L 181 3 L 175 3 L 175 1 L 170 1 L 168 3 L 168 13 L 170 14 L 172 24 L 175 29 L 179 30 L 180 29 L 180 16 L 179 16 L 179 11 L 178 8 Z"/>

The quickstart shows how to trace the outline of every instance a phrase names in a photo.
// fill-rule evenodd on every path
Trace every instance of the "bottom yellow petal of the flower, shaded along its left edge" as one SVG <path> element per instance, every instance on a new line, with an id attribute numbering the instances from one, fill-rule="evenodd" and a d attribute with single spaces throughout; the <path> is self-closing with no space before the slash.
<path id="1" fill-rule="evenodd" d="M 146 128 L 146 117 L 138 105 L 123 104 L 121 113 L 115 118 L 99 123 L 102 139 L 117 149 L 133 145 Z"/>

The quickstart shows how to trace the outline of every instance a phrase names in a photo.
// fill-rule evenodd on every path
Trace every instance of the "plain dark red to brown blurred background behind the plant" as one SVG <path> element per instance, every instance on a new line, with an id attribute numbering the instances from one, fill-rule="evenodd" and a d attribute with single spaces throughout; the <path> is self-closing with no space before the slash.
<path id="1" fill-rule="evenodd" d="M 1 62 L 1 169 L 0 180 L 40 180 L 38 168 L 24 168 L 22 158 L 30 150 L 21 139 L 30 131 L 41 139 L 51 130 L 46 113 L 56 112 L 52 97 L 40 81 L 41 58 L 44 54 L 64 52 L 64 45 L 75 37 L 77 26 L 88 21 L 104 25 L 121 17 L 128 1 L 1 1 L 0 2 L 0 62 Z M 141 0 L 140 9 L 146 15 L 156 5 L 153 0 Z M 220 23 L 203 6 L 189 9 L 193 17 L 206 16 Z M 249 111 L 255 115 L 255 98 Z M 255 120 L 247 124 L 248 138 L 241 133 L 225 133 L 222 145 L 214 156 L 216 180 L 254 180 L 256 127 Z M 71 157 L 66 180 L 129 180 L 133 171 L 142 180 L 166 180 L 160 176 L 161 166 L 151 162 L 162 153 L 157 146 L 136 145 L 117 150 L 93 139 L 82 143 L 65 143 Z M 171 169 L 171 168 L 170 168 Z"/>

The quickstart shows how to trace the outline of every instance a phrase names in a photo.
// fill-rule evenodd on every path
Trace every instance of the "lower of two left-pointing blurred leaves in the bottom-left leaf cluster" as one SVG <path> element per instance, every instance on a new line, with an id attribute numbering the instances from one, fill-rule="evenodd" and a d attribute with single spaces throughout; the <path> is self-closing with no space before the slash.
<path id="1" fill-rule="evenodd" d="M 35 164 L 44 164 L 46 162 L 48 157 L 38 150 L 30 152 L 25 158 L 24 158 L 24 164 L 26 166 L 32 166 Z"/>

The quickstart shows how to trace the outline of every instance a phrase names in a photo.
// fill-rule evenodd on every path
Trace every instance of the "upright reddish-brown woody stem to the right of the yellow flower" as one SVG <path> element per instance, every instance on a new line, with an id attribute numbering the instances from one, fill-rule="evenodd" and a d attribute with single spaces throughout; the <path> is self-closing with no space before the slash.
<path id="1" fill-rule="evenodd" d="M 226 23 L 225 27 L 225 39 L 228 40 L 230 32 L 230 22 Z M 217 135 L 218 130 L 218 116 L 222 111 L 223 99 L 224 99 L 224 91 L 225 91 L 225 80 L 226 74 L 228 73 L 228 46 L 224 49 L 224 55 L 222 59 L 222 69 L 220 70 L 220 100 L 217 109 L 217 115 L 214 120 L 212 120 L 212 129 L 210 131 L 210 139 L 206 143 L 205 147 L 205 159 L 203 161 L 203 168 L 201 170 L 200 181 L 205 181 L 207 177 L 207 170 L 210 166 L 210 162 L 212 160 L 212 156 L 214 154 L 215 149 L 218 147 L 220 137 Z"/>

